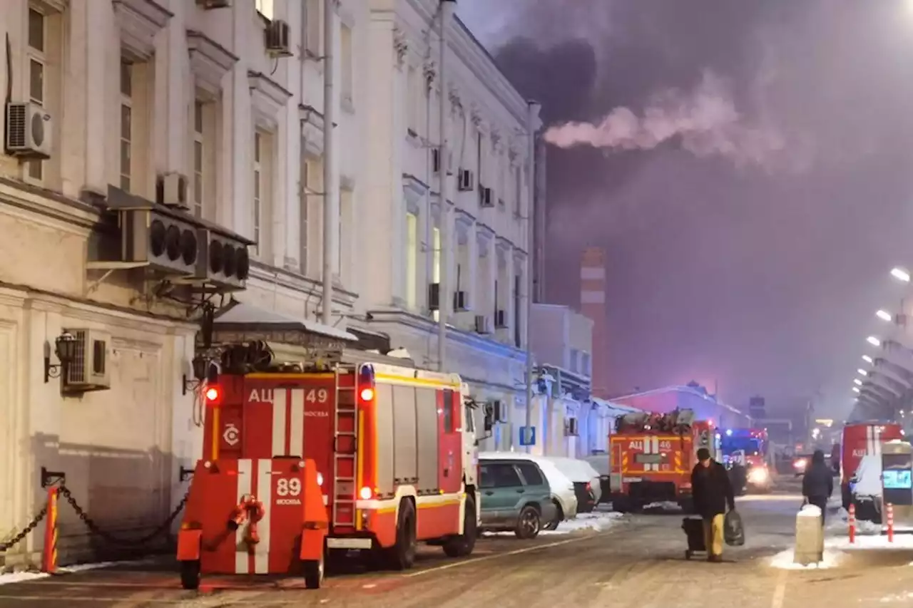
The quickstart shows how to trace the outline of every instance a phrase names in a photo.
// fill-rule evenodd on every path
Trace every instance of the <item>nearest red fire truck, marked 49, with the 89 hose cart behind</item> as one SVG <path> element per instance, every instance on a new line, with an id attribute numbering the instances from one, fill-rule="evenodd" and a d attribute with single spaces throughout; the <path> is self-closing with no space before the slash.
<path id="1" fill-rule="evenodd" d="M 179 547 L 185 587 L 201 571 L 289 573 L 302 526 L 325 528 L 325 550 L 311 556 L 319 570 L 305 571 L 310 587 L 320 586 L 326 557 L 352 550 L 395 569 L 413 565 L 418 541 L 450 556 L 472 552 L 477 446 L 459 376 L 367 362 L 262 368 L 223 372 L 203 388 L 204 454 L 182 526 L 197 531 Z M 301 518 L 309 463 L 323 524 Z M 214 468 L 232 487 L 210 491 L 201 472 Z M 226 532 L 239 512 L 247 516 Z"/>

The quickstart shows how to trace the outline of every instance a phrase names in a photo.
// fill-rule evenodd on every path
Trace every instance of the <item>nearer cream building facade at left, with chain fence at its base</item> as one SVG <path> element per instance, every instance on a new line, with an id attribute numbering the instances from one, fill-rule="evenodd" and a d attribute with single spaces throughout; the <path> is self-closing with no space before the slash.
<path id="1" fill-rule="evenodd" d="M 338 196 L 332 316 L 342 327 L 350 316 L 364 270 L 356 263 L 360 207 L 371 192 L 362 153 L 373 111 L 368 2 L 226 5 L 0 3 L 0 88 L 23 117 L 4 121 L 20 126 L 4 132 L 0 154 L 0 443 L 8 446 L 0 540 L 40 507 L 42 467 L 66 473 L 100 525 L 129 533 L 161 523 L 184 493 L 179 467 L 200 453 L 199 407 L 184 376 L 202 301 L 178 298 L 187 290 L 169 272 L 190 265 L 178 258 L 202 255 L 205 244 L 191 250 L 162 236 L 182 248 L 161 272 L 133 257 L 101 256 L 107 248 L 127 255 L 128 212 L 112 211 L 114 198 L 145 205 L 135 213 L 171 223 L 168 230 L 184 226 L 182 238 L 217 237 L 240 249 L 253 243 L 231 297 L 314 320 L 324 197 Z M 325 10 L 332 11 L 329 38 Z M 338 155 L 329 183 L 328 39 L 335 41 L 330 137 Z M 13 110 L 5 111 L 8 118 Z M 154 249 L 154 222 L 136 226 L 128 248 L 148 241 Z M 195 277 L 192 266 L 181 269 L 184 278 Z M 227 298 L 230 290 L 218 285 L 211 291 Z M 101 390 L 64 394 L 61 381 L 47 377 L 59 373 L 55 343 L 65 330 L 95 337 L 100 354 L 89 373 Z M 85 545 L 85 529 L 66 509 L 61 517 L 66 555 Z M 33 535 L 6 560 L 28 559 L 38 544 Z"/>

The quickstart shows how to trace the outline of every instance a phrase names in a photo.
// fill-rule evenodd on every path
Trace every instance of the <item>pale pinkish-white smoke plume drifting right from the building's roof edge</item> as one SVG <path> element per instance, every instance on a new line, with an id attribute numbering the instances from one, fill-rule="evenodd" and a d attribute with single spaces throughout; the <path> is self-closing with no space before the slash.
<path id="1" fill-rule="evenodd" d="M 639 116 L 618 107 L 602 121 L 565 122 L 545 132 L 545 140 L 560 148 L 652 150 L 676 139 L 697 156 L 719 156 L 738 166 L 770 167 L 786 147 L 778 130 L 751 124 L 740 114 L 725 81 L 710 70 L 691 91 L 664 89 L 652 95 Z"/>

